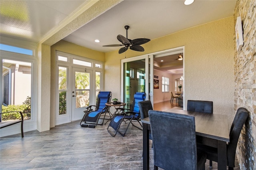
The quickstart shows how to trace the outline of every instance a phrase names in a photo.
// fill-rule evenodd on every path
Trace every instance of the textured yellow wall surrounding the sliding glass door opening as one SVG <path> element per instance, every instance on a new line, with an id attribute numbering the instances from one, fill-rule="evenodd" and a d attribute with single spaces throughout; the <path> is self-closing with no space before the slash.
<path id="1" fill-rule="evenodd" d="M 215 114 L 234 111 L 234 18 L 210 22 L 142 45 L 144 52 L 106 53 L 105 89 L 120 97 L 120 60 L 185 46 L 184 100 L 208 100 Z M 113 76 L 114 75 L 114 76 Z M 231 123 L 231 117 L 230 117 Z"/>

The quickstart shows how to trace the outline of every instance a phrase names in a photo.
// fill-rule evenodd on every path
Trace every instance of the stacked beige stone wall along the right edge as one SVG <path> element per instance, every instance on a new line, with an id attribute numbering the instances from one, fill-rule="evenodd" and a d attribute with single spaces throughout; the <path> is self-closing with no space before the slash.
<path id="1" fill-rule="evenodd" d="M 234 114 L 244 107 L 249 111 L 249 118 L 240 134 L 236 154 L 241 170 L 256 170 L 256 0 L 238 0 L 234 26 L 238 16 L 242 19 L 244 45 L 234 56 Z"/>

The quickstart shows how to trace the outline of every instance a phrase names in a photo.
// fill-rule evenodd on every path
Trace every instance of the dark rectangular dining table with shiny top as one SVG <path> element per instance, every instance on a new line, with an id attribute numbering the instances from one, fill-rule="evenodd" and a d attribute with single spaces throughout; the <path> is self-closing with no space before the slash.
<path id="1" fill-rule="evenodd" d="M 198 143 L 218 148 L 218 170 L 226 170 L 226 142 L 229 142 L 227 115 L 168 109 L 165 112 L 192 115 L 196 123 Z M 143 170 L 149 170 L 149 117 L 142 119 L 143 126 Z"/>

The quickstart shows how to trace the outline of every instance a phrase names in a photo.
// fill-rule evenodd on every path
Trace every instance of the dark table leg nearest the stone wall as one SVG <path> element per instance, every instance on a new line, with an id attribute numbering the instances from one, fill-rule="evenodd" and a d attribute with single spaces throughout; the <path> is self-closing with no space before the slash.
<path id="1" fill-rule="evenodd" d="M 227 144 L 224 141 L 218 140 L 218 170 L 227 169 Z"/>

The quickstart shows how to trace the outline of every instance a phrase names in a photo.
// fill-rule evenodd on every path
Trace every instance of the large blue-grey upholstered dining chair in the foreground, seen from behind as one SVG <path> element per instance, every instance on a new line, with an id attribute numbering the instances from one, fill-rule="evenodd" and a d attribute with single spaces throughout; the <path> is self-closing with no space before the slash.
<path id="1" fill-rule="evenodd" d="M 149 110 L 154 169 L 204 170 L 206 153 L 197 150 L 195 118 Z"/>

